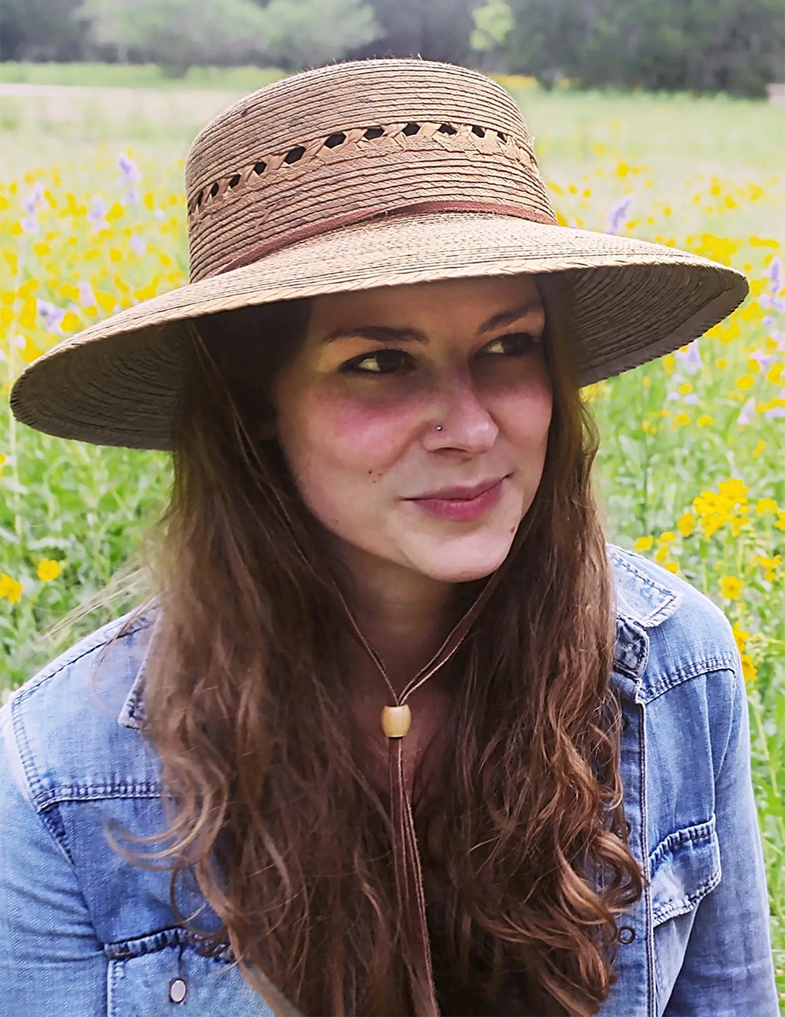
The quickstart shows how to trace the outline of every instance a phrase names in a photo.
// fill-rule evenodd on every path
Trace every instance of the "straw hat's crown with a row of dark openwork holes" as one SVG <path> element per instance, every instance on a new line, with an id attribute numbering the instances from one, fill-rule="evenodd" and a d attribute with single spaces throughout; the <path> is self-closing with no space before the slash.
<path id="1" fill-rule="evenodd" d="M 556 222 L 508 93 L 426 60 L 334 64 L 243 97 L 197 136 L 185 181 L 192 282 L 408 207 Z"/>

